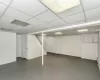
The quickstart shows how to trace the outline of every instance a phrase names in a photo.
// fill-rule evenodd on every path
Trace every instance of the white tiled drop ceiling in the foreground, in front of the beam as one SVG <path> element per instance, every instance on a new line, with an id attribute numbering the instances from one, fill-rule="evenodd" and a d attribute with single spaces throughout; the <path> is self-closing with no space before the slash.
<path id="1" fill-rule="evenodd" d="M 39 1 L 0 0 L 0 28 L 18 33 L 31 33 L 100 20 L 100 0 L 81 0 L 82 4 L 57 14 Z M 15 19 L 30 25 L 22 27 L 11 24 Z"/>

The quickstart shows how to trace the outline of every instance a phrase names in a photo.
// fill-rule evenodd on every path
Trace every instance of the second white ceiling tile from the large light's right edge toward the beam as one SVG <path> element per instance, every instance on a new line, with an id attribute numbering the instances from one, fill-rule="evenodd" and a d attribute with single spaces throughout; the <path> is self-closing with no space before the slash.
<path id="1" fill-rule="evenodd" d="M 77 22 L 77 21 L 82 21 L 84 20 L 84 13 L 78 13 L 72 16 L 68 16 L 63 18 L 67 23 L 73 23 L 73 22 Z"/>

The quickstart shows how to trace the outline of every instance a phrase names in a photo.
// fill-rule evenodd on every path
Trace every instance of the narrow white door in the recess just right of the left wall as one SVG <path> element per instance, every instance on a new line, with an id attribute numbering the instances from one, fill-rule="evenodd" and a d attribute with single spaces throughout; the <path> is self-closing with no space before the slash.
<path id="1" fill-rule="evenodd" d="M 17 34 L 16 36 L 16 56 L 21 58 L 27 57 L 27 35 Z"/>

